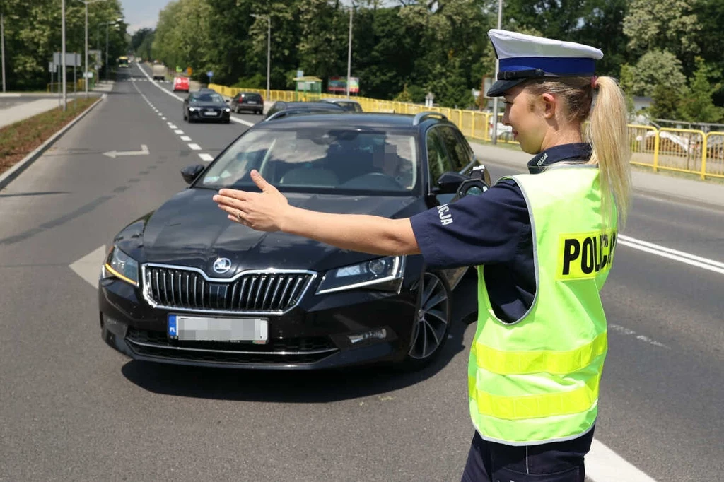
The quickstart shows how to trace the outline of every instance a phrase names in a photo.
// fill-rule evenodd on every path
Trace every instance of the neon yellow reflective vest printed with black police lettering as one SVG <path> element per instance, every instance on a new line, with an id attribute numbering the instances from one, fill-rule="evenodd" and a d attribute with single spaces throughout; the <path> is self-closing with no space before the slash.
<path id="1" fill-rule="evenodd" d="M 596 166 L 556 166 L 513 179 L 531 217 L 536 294 L 523 318 L 503 323 L 478 267 L 471 418 L 483 439 L 503 444 L 574 439 L 598 413 L 607 351 L 599 290 L 613 263 L 615 207 L 606 226 Z"/>

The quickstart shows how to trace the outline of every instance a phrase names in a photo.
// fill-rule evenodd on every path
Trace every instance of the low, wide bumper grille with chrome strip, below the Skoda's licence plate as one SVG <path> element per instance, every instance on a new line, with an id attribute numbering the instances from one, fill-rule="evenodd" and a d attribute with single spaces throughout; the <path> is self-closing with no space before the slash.
<path id="1" fill-rule="evenodd" d="M 130 328 L 126 341 L 138 355 L 211 363 L 315 363 L 339 351 L 327 337 L 270 339 L 267 344 L 190 342 L 169 339 L 161 331 Z"/>

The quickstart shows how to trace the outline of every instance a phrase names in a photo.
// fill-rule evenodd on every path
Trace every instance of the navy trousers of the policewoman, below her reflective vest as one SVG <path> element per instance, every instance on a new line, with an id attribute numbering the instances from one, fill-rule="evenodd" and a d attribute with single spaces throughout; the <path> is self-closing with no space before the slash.
<path id="1" fill-rule="evenodd" d="M 577 439 L 514 447 L 476 432 L 462 482 L 584 482 L 593 428 Z"/>

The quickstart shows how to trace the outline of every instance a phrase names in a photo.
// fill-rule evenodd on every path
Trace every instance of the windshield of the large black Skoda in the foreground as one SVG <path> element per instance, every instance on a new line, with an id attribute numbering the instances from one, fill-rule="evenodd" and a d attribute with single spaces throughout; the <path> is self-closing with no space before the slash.
<path id="1" fill-rule="evenodd" d="M 411 133 L 310 126 L 248 132 L 196 186 L 255 188 L 252 169 L 279 190 L 334 194 L 409 194 L 420 178 Z"/>

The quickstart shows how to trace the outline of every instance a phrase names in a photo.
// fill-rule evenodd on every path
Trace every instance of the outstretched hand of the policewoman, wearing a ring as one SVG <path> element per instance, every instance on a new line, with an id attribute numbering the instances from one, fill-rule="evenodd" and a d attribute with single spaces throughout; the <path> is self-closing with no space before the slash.
<path id="1" fill-rule="evenodd" d="M 251 179 L 261 193 L 248 193 L 236 189 L 222 189 L 214 195 L 214 202 L 226 211 L 228 218 L 257 231 L 280 231 L 287 211 L 287 198 L 276 187 L 266 182 L 254 169 Z"/>

